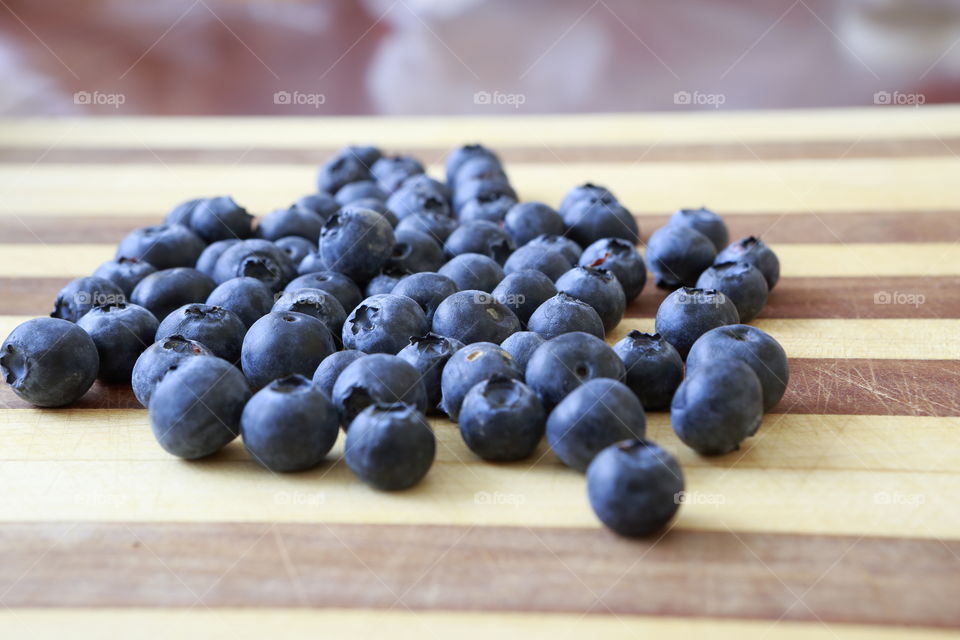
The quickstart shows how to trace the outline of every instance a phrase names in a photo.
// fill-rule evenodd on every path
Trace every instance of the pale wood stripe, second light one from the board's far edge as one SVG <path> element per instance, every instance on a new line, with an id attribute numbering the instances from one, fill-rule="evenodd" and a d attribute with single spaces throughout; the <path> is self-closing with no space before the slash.
<path id="1" fill-rule="evenodd" d="M 952 208 L 956 157 L 683 163 L 550 163 L 508 167 L 520 196 L 557 203 L 599 181 L 638 213 L 681 206 L 769 214 Z M 440 175 L 437 167 L 431 167 Z M 161 215 L 203 194 L 229 193 L 253 212 L 287 206 L 314 188 L 313 165 L 0 165 L 0 213 Z M 692 200 L 692 201 L 691 201 Z M 760 230 L 762 231 L 762 230 Z"/>

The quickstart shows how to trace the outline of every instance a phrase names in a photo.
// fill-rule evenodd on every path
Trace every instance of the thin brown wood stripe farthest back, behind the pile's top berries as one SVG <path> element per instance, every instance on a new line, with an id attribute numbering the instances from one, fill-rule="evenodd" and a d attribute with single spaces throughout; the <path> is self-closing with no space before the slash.
<path id="1" fill-rule="evenodd" d="M 22 148 L 0 149 L 0 163 L 70 162 L 85 163 L 311 163 L 325 161 L 336 147 L 313 149 L 121 149 Z M 409 153 L 428 162 L 440 162 L 447 148 L 390 149 Z M 788 142 L 752 141 L 713 144 L 637 144 L 630 146 L 543 145 L 499 148 L 507 162 L 730 162 L 790 160 L 806 158 L 873 158 L 905 156 L 951 156 L 960 154 L 958 138 L 914 138 L 889 140 L 802 140 Z"/>

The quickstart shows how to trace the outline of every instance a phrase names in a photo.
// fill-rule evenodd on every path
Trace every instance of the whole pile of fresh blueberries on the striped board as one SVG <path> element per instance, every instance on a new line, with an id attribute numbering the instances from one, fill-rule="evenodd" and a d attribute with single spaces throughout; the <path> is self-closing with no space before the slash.
<path id="1" fill-rule="evenodd" d="M 432 465 L 428 414 L 456 421 L 484 460 L 528 458 L 546 435 L 624 535 L 658 530 L 682 502 L 645 411 L 669 408 L 683 442 L 723 454 L 784 393 L 783 349 L 742 324 L 777 258 L 753 237 L 728 244 L 707 209 L 649 240 L 647 265 L 672 290 L 657 333 L 610 347 L 647 267 L 609 190 L 575 187 L 556 210 L 518 202 L 481 145 L 449 154 L 445 182 L 415 158 L 346 147 L 317 186 L 256 223 L 229 197 L 199 198 L 131 232 L 52 317 L 10 334 L 3 377 L 39 407 L 97 378 L 131 384 L 160 445 L 186 459 L 240 435 L 261 465 L 300 471 L 342 427 L 347 465 L 383 490 Z"/>

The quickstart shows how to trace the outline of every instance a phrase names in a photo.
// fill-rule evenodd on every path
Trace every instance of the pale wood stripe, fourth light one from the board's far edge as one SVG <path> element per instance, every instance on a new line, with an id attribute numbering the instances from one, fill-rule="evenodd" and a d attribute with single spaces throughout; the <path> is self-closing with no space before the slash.
<path id="1" fill-rule="evenodd" d="M 7 336 L 30 316 L 0 316 Z M 870 358 L 958 360 L 960 319 L 756 320 L 751 323 L 776 338 L 790 358 Z M 614 343 L 632 330 L 652 332 L 653 318 L 626 318 L 607 336 Z"/>

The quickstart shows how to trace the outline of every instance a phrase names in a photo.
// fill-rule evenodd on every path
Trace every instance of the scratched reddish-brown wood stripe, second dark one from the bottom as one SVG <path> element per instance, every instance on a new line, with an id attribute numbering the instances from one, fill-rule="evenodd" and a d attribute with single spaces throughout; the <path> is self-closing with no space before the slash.
<path id="1" fill-rule="evenodd" d="M 790 360 L 790 385 L 777 413 L 960 416 L 958 360 Z M 26 409 L 0 384 L 0 408 Z M 75 409 L 142 409 L 129 387 L 99 382 Z"/>

